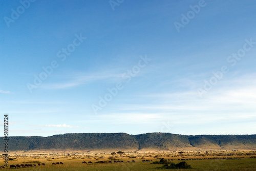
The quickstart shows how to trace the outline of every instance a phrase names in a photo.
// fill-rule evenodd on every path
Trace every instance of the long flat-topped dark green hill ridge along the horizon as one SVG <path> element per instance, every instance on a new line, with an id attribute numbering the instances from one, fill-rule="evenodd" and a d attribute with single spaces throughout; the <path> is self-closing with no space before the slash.
<path id="1" fill-rule="evenodd" d="M 4 142 L 4 138 L 2 142 Z M 4 143 L 0 148 L 4 149 Z M 76 149 L 94 150 L 176 150 L 176 149 L 256 149 L 256 135 L 178 135 L 170 133 L 83 133 L 50 137 L 9 137 L 10 151 Z"/>

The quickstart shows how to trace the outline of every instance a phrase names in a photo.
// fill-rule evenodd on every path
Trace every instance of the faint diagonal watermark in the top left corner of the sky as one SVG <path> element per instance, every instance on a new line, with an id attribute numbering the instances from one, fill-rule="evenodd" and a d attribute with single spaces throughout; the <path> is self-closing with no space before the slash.
<path id="1" fill-rule="evenodd" d="M 13 8 L 11 9 L 12 13 L 10 17 L 5 16 L 4 20 L 7 25 L 7 27 L 10 27 L 11 23 L 14 23 L 15 20 L 19 18 L 21 14 L 25 12 L 26 9 L 28 9 L 31 5 L 31 3 L 34 3 L 36 0 L 20 0 L 19 3 L 21 4 L 14 10 Z"/>

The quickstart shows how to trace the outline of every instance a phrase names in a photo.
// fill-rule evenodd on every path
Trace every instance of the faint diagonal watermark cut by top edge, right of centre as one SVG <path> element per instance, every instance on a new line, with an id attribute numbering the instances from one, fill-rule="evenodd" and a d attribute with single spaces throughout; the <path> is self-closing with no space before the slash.
<path id="1" fill-rule="evenodd" d="M 210 0 L 209 0 L 210 1 Z M 178 33 L 180 32 L 180 28 L 184 28 L 191 19 L 195 18 L 196 14 L 198 14 L 201 11 L 201 8 L 205 7 L 207 4 L 205 3 L 204 0 L 199 0 L 198 5 L 195 6 L 189 6 L 189 8 L 191 9 L 190 11 L 188 11 L 185 14 L 181 14 L 182 18 L 181 18 L 181 23 L 179 22 L 174 22 L 174 26 L 176 28 L 176 30 L 178 31 Z"/>

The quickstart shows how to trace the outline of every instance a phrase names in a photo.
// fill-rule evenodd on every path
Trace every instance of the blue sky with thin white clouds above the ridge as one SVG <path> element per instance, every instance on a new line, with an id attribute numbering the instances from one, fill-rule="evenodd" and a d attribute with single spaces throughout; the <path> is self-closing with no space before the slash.
<path id="1" fill-rule="evenodd" d="M 254 1 L 0 8 L 0 111 L 10 136 L 256 134 Z"/>

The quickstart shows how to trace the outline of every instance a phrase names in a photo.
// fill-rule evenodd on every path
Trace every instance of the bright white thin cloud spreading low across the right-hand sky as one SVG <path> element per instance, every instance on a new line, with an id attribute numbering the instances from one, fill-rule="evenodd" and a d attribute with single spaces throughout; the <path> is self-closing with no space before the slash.
<path id="1" fill-rule="evenodd" d="M 186 92 L 174 93 L 152 93 L 145 95 L 137 95 L 137 99 L 147 97 L 154 99 L 143 101 L 140 103 L 119 104 L 117 112 L 129 114 L 131 111 L 140 111 L 137 116 L 143 117 L 147 111 L 151 114 L 157 113 L 158 117 L 168 118 L 178 116 L 186 116 L 183 121 L 190 122 L 188 116 L 200 119 L 207 116 L 218 118 L 217 120 L 242 117 L 255 119 L 255 104 L 256 104 L 256 84 L 255 74 L 242 75 L 235 79 L 224 79 L 219 82 L 216 87 L 209 90 L 203 98 L 197 95 L 196 90 L 187 90 Z M 115 108 L 116 106 L 113 106 Z M 177 114 L 180 115 L 177 115 Z M 123 115 L 125 115 L 123 114 Z M 182 114 L 182 115 L 181 115 Z M 129 115 L 127 115 L 129 116 Z M 133 117 L 131 117 L 133 118 Z M 212 120 L 212 119 L 211 119 Z"/>

